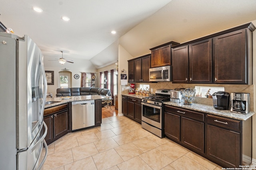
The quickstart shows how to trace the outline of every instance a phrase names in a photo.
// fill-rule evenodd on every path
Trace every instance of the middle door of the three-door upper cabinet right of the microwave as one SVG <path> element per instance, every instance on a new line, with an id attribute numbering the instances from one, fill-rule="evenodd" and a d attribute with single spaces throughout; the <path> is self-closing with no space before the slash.
<path id="1" fill-rule="evenodd" d="M 189 45 L 189 82 L 212 83 L 212 39 Z"/>

